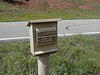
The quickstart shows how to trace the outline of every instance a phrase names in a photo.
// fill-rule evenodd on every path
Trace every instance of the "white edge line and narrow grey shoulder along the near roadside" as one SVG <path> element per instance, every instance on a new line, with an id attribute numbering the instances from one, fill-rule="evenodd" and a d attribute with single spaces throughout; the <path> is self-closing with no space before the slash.
<path id="1" fill-rule="evenodd" d="M 74 33 L 74 34 L 58 34 L 59 38 L 68 38 L 75 35 L 81 34 L 85 37 L 100 38 L 100 32 L 86 32 L 86 33 Z M 24 41 L 29 42 L 29 37 L 15 37 L 15 38 L 1 38 L 0 43 L 7 43 L 13 41 Z"/>

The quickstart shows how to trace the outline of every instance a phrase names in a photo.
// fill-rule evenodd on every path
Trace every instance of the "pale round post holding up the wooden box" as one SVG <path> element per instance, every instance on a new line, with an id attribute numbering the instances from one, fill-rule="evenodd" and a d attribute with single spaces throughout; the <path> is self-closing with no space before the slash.
<path id="1" fill-rule="evenodd" d="M 49 75 L 49 54 L 38 56 L 38 75 Z"/>

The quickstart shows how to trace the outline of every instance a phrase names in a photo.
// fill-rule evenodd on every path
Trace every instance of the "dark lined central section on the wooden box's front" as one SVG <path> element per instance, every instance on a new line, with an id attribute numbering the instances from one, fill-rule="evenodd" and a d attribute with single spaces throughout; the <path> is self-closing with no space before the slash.
<path id="1" fill-rule="evenodd" d="M 55 28 L 55 27 L 54 27 Z M 50 45 L 50 44 L 55 44 L 56 43 L 56 29 L 49 28 L 46 29 L 43 28 L 45 31 L 39 30 L 37 31 L 37 46 L 45 46 L 45 45 Z"/>

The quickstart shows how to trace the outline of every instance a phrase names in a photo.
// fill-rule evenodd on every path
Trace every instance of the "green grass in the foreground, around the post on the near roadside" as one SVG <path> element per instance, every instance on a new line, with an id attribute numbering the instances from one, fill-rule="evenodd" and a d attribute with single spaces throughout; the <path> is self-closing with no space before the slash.
<path id="1" fill-rule="evenodd" d="M 59 38 L 58 52 L 50 56 L 50 75 L 100 75 L 100 39 Z M 29 43 L 0 44 L 0 75 L 37 75 L 37 58 Z"/>

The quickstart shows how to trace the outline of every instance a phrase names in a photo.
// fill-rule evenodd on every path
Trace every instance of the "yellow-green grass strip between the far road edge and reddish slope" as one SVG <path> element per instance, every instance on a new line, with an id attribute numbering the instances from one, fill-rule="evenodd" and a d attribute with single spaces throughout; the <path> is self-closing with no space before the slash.
<path id="1" fill-rule="evenodd" d="M 30 12 L 19 6 L 0 2 L 0 22 L 4 21 L 27 21 L 34 19 L 62 18 L 62 19 L 100 19 L 100 7 L 95 6 L 94 10 L 56 9 L 50 8 L 34 10 Z"/>

